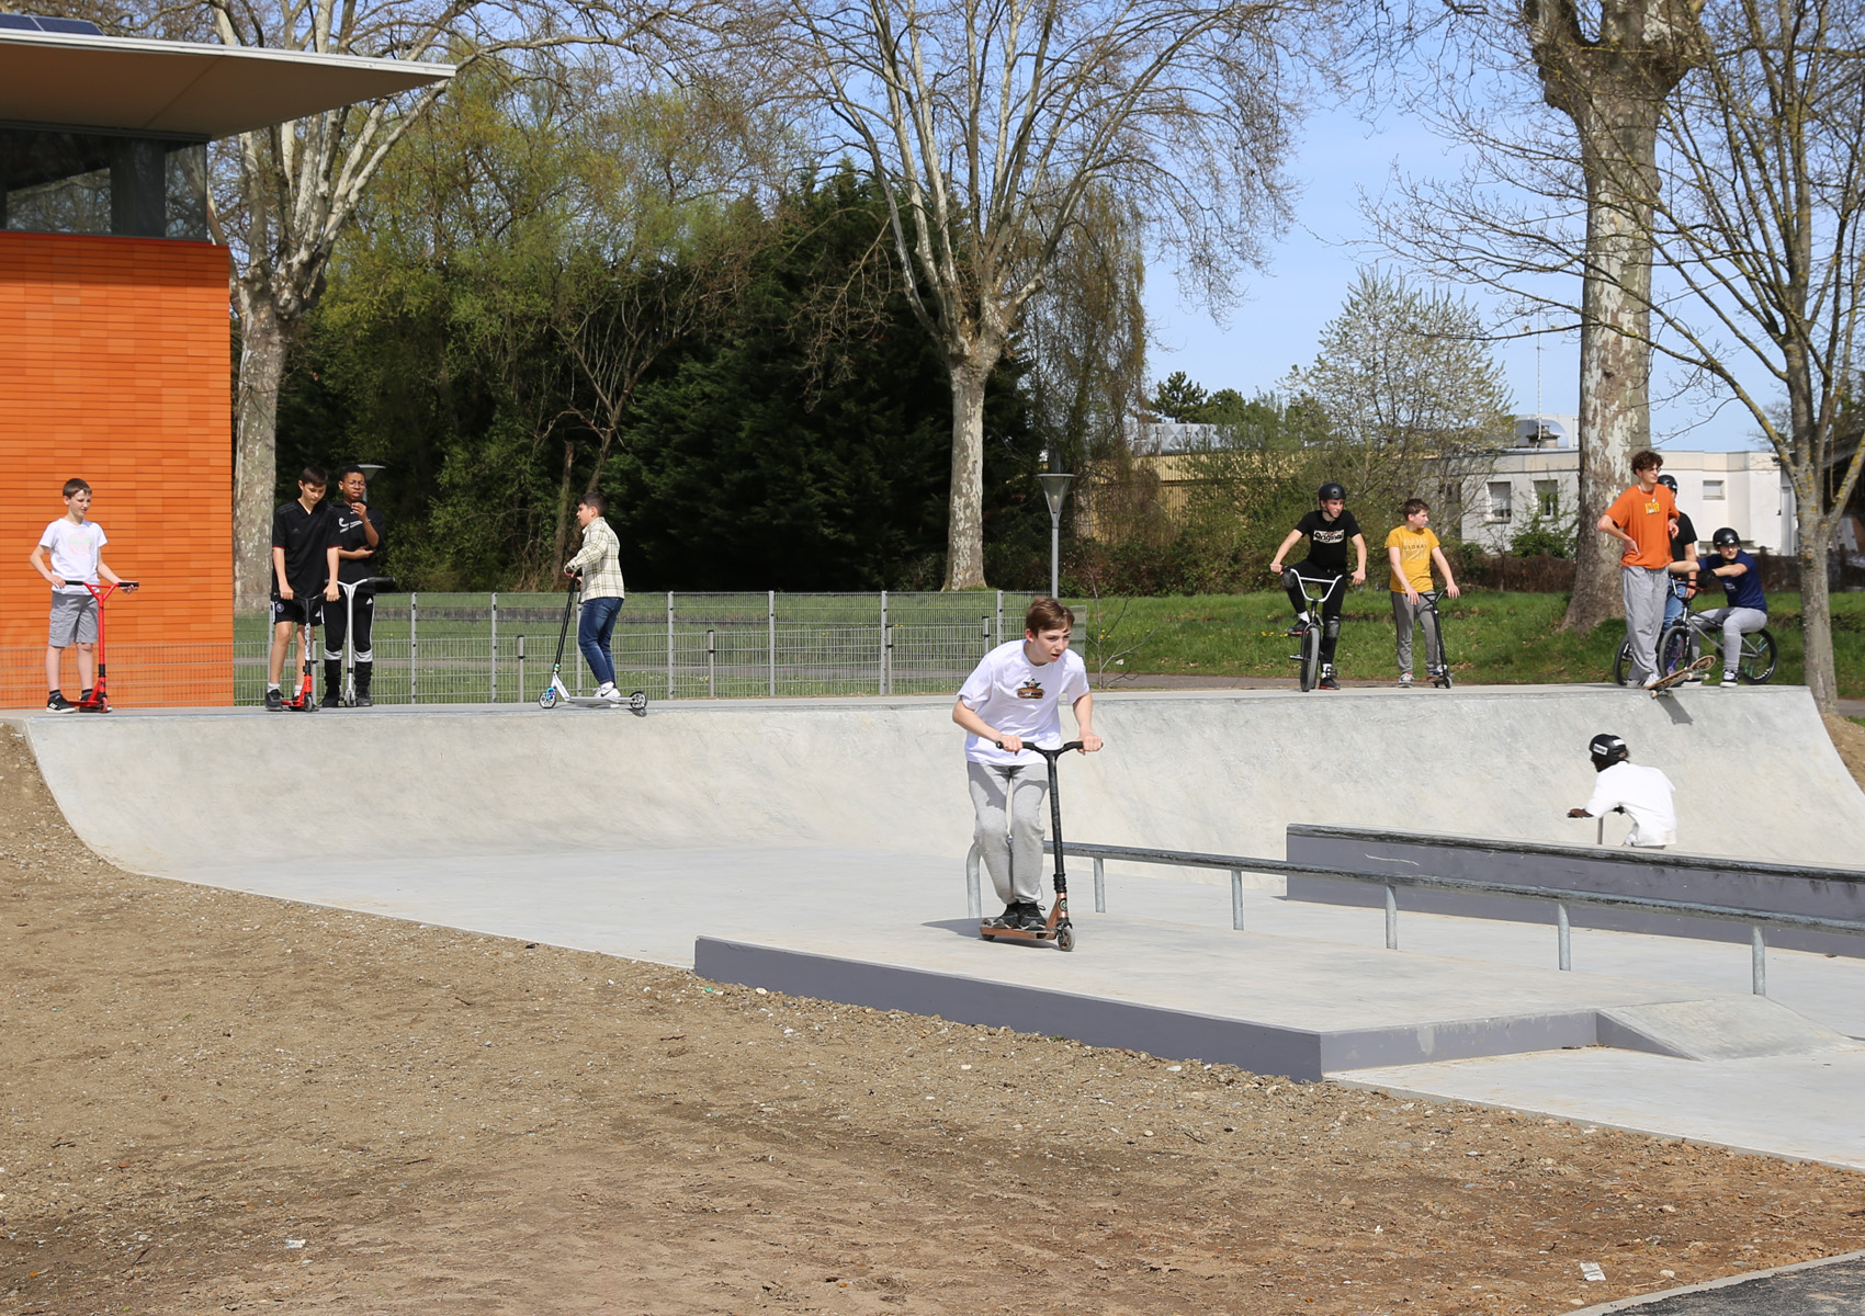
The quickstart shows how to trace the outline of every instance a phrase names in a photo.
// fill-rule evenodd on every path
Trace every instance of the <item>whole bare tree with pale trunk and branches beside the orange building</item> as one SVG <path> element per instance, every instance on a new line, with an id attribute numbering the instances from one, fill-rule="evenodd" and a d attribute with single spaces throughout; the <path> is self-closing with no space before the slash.
<path id="1" fill-rule="evenodd" d="M 705 4 L 707 0 L 694 0 Z M 211 30 L 229 47 L 410 62 L 489 56 L 578 43 L 647 52 L 675 19 L 668 6 L 630 0 L 201 0 L 157 9 L 145 26 Z M 567 26 L 573 24 L 573 26 Z M 233 311 L 239 319 L 235 390 L 233 582 L 235 606 L 267 593 L 276 481 L 278 388 L 287 354 L 317 304 L 339 233 L 382 168 L 444 84 L 332 110 L 237 142 L 209 216 L 233 250 Z"/>

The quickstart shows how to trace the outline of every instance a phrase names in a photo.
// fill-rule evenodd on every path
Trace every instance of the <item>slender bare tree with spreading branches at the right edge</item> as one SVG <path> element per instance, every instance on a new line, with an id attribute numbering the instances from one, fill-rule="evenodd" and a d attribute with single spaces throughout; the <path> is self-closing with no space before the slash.
<path id="1" fill-rule="evenodd" d="M 1852 438 L 1865 281 L 1865 7 L 1720 0 L 1680 45 L 1678 82 L 1651 106 L 1647 158 L 1591 160 L 1593 173 L 1609 175 L 1595 186 L 1557 142 L 1468 119 L 1462 136 L 1479 164 L 1449 185 L 1408 185 L 1388 239 L 1544 304 L 1559 302 L 1533 285 L 1537 274 L 1609 281 L 1624 311 L 1613 334 L 1636 362 L 1656 352 L 1753 418 L 1794 487 L 1807 684 L 1831 708 L 1826 565 L 1865 460 Z M 1587 242 L 1576 240 L 1576 216 Z M 1621 250 L 1647 254 L 1637 280 L 1623 265 L 1596 265 L 1608 257 L 1591 244 L 1595 224 Z M 1568 309 L 1583 326 L 1600 317 Z M 1583 526 L 1595 516 L 1582 509 Z"/>

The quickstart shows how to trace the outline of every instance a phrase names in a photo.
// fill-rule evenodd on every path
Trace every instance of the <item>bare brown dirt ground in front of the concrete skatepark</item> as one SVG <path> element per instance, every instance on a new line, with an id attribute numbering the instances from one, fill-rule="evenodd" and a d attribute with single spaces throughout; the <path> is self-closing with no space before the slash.
<path id="1" fill-rule="evenodd" d="M 0 923 L 0 1312 L 1557 1312 L 1865 1247 L 1837 1169 L 129 876 L 7 729 Z"/>

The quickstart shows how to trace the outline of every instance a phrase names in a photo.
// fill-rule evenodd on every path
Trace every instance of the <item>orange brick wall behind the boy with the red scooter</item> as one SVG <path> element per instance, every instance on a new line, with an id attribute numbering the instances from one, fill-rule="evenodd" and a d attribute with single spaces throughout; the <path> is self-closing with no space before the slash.
<path id="1" fill-rule="evenodd" d="M 104 563 L 142 582 L 108 604 L 112 701 L 233 703 L 228 354 L 226 248 L 0 231 L 0 706 L 45 701 L 50 589 L 28 557 L 73 475 Z"/>

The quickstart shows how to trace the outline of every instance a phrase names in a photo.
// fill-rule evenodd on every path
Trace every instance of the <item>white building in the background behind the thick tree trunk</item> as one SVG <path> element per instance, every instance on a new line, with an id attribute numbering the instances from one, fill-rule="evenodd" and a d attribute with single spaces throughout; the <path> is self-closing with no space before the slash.
<path id="1" fill-rule="evenodd" d="M 1514 447 L 1449 481 L 1445 496 L 1460 509 L 1464 539 L 1501 552 L 1537 516 L 1550 529 L 1570 529 L 1580 503 L 1578 429 L 1576 416 L 1524 416 Z M 1774 453 L 1658 451 L 1699 544 L 1731 526 L 1749 548 L 1796 552 L 1794 488 Z"/>

